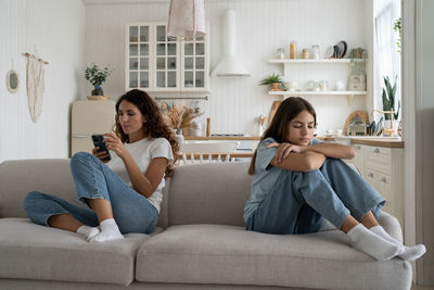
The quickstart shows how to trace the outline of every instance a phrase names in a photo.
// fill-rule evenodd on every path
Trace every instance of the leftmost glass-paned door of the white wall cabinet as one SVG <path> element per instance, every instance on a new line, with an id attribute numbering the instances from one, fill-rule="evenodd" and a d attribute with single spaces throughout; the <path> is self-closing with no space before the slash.
<path id="1" fill-rule="evenodd" d="M 150 87 L 150 27 L 128 27 L 128 88 Z"/>

